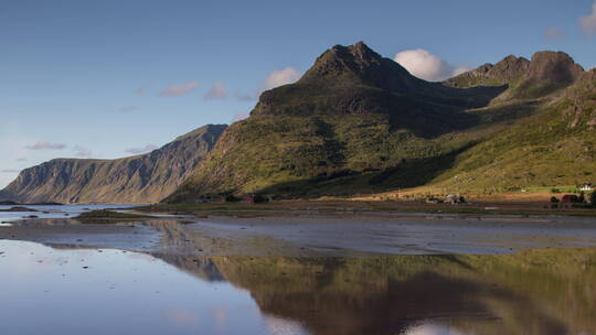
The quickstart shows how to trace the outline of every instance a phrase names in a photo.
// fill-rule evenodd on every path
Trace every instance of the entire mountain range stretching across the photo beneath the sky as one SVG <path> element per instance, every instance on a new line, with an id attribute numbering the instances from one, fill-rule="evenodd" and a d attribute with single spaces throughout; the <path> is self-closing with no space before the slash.
<path id="1" fill-rule="evenodd" d="M 333 46 L 297 83 L 263 93 L 249 118 L 225 131 L 209 126 L 210 141 L 51 161 L 23 171 L 0 198 L 145 203 L 594 183 L 595 127 L 596 69 L 565 53 L 508 56 L 429 83 L 360 42 Z"/>

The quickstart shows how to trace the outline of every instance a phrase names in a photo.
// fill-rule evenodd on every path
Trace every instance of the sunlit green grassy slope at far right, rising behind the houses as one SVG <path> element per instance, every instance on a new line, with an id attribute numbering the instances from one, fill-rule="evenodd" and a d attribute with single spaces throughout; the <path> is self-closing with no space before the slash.
<path id="1" fill-rule="evenodd" d="M 469 151 L 434 182 L 502 192 L 596 181 L 596 69 L 541 108 Z"/>

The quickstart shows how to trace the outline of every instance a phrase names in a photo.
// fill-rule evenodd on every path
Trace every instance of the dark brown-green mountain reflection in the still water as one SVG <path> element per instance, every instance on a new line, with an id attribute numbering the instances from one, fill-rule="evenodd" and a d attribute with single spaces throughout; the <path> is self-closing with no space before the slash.
<path id="1" fill-rule="evenodd" d="M 593 334 L 596 251 L 287 258 L 157 256 L 251 292 L 312 334 Z M 584 332 L 584 333 L 582 333 Z"/>

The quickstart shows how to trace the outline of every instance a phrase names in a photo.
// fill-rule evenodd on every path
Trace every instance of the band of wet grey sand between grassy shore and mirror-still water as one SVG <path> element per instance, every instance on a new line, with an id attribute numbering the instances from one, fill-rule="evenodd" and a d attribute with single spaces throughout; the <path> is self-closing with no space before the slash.
<path id="1" fill-rule="evenodd" d="M 158 218 L 121 224 L 34 219 L 0 239 L 203 256 L 492 255 L 596 247 L 593 218 L 301 215 Z"/>

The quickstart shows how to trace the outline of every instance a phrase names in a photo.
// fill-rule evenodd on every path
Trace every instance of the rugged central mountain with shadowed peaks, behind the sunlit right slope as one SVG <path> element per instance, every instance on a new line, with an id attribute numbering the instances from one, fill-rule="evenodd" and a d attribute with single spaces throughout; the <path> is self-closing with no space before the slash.
<path id="1" fill-rule="evenodd" d="M 549 110 L 561 114 L 552 104 L 585 77 L 568 55 L 539 52 L 428 83 L 362 42 L 337 45 L 297 83 L 263 93 L 251 117 L 232 125 L 166 201 L 353 195 L 445 182 L 466 154 L 492 156 L 473 151 L 482 143 L 524 127 L 515 125 L 541 123 Z"/>

